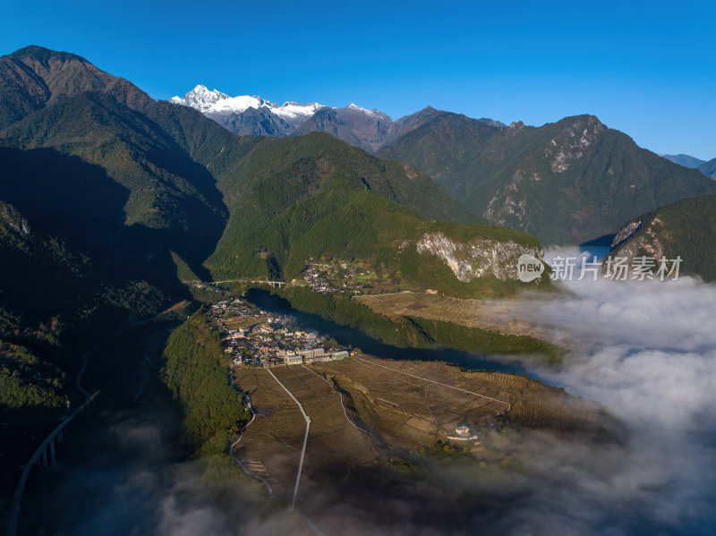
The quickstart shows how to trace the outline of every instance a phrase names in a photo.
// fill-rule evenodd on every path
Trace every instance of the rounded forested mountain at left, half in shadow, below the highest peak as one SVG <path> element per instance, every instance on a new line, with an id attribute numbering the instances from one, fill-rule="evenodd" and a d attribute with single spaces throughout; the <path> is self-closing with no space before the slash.
<path id="1" fill-rule="evenodd" d="M 166 230 L 166 245 L 194 264 L 223 229 L 226 208 L 206 168 L 155 124 L 105 94 L 80 93 L 33 112 L 0 132 L 0 144 L 56 149 L 101 166 L 128 192 L 124 224 Z M 65 190 L 56 200 L 74 194 Z"/>

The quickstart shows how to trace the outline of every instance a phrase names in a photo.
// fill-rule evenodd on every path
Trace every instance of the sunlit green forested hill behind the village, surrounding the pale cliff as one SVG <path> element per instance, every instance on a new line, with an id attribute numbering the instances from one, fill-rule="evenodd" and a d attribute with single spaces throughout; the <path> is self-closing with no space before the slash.
<path id="1" fill-rule="evenodd" d="M 277 190 L 283 192 L 280 199 Z M 484 281 L 461 282 L 442 259 L 418 253 L 416 242 L 426 234 L 444 234 L 458 243 L 514 242 L 520 250 L 541 250 L 536 239 L 516 231 L 425 220 L 367 189 L 354 171 L 337 168 L 326 178 L 277 173 L 254 184 L 232 209 L 217 251 L 206 264 L 215 279 L 290 281 L 301 277 L 311 258 L 357 259 L 396 285 L 480 295 Z M 502 263 L 512 260 L 516 261 L 502 259 Z M 516 281 L 485 279 L 494 285 L 516 285 Z"/>

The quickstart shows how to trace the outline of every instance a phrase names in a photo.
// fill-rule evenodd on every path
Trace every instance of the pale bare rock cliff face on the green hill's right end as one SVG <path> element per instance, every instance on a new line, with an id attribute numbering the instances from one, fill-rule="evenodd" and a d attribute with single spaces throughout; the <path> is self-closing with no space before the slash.
<path id="1" fill-rule="evenodd" d="M 493 275 L 499 279 L 517 278 L 517 260 L 524 253 L 544 259 L 540 248 L 527 248 L 516 242 L 479 238 L 457 242 L 442 233 L 426 233 L 416 242 L 419 253 L 443 260 L 456 277 L 468 283 L 476 277 Z"/>

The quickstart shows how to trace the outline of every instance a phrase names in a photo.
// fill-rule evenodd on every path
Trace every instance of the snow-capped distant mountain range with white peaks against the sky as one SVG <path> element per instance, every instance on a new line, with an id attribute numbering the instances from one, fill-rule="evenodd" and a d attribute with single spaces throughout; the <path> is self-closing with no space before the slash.
<path id="1" fill-rule="evenodd" d="M 300 136 L 310 132 L 328 132 L 354 147 L 375 152 L 406 132 L 429 121 L 440 112 L 427 106 L 413 115 L 393 121 L 379 110 L 350 104 L 337 108 L 318 103 L 274 104 L 264 98 L 243 95 L 229 97 L 217 89 L 198 85 L 171 102 L 190 106 L 239 135 Z M 492 126 L 505 126 L 492 119 L 479 119 Z"/>

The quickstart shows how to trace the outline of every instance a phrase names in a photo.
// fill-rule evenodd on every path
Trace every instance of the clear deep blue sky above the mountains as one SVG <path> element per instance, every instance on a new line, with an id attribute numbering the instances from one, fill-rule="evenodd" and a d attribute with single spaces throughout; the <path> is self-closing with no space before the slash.
<path id="1" fill-rule="evenodd" d="M 712 2 L 0 6 L 0 54 L 67 50 L 155 98 L 203 83 L 393 118 L 427 105 L 538 125 L 589 113 L 655 152 L 716 157 Z"/>

